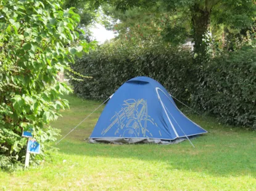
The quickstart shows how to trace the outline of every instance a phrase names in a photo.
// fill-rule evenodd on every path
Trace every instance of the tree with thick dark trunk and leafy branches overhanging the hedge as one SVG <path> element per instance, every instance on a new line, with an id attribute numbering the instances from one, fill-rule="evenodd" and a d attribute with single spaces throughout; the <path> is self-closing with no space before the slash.
<path id="1" fill-rule="evenodd" d="M 207 60 L 209 56 L 209 30 L 212 20 L 218 25 L 225 24 L 242 29 L 252 24 L 256 10 L 255 1 L 252 0 L 107 0 L 104 2 L 123 11 L 139 7 L 149 11 L 182 14 L 182 17 L 191 23 L 194 53 L 198 64 Z"/>

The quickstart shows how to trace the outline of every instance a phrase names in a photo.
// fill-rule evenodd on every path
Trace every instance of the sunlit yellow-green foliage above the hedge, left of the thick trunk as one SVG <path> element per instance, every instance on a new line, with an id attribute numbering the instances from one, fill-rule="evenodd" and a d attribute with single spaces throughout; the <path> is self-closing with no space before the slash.
<path id="1" fill-rule="evenodd" d="M 108 16 L 105 26 L 117 32 L 123 41 L 163 41 L 179 45 L 189 35 L 190 26 L 183 14 L 140 7 L 123 12 L 109 5 L 102 9 Z"/>

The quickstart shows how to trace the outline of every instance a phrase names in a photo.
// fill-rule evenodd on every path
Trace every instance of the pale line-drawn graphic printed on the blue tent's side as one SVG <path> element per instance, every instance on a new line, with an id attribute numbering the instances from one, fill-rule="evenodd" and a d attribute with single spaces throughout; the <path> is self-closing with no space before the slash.
<path id="1" fill-rule="evenodd" d="M 127 99 L 119 112 L 110 119 L 109 127 L 102 131 L 105 135 L 110 129 L 115 128 L 115 136 L 120 137 L 153 137 L 152 132 L 147 128 L 150 122 L 157 128 L 157 123 L 147 114 L 147 101 L 144 99 Z M 162 134 L 158 131 L 160 136 Z"/>

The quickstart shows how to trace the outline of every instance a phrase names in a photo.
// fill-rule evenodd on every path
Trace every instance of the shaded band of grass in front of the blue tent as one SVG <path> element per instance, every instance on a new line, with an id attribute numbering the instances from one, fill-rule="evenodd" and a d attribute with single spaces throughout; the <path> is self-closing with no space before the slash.
<path id="1" fill-rule="evenodd" d="M 154 144 L 89 144 L 87 142 L 64 141 L 58 147 L 68 155 L 88 157 L 131 158 L 164 162 L 167 170 L 187 170 L 207 173 L 213 176 L 256 177 L 256 141 L 250 137 L 246 141 L 226 140 L 225 136 L 213 134 L 200 136 L 193 142 L 162 146 Z"/>

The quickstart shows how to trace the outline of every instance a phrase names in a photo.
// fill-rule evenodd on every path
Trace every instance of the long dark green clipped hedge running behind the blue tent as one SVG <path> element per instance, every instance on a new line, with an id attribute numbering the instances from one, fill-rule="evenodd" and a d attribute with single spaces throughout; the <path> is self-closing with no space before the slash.
<path id="1" fill-rule="evenodd" d="M 198 66 L 188 50 L 106 44 L 72 68 L 93 77 L 71 80 L 74 92 L 82 98 L 106 99 L 126 80 L 149 76 L 197 111 L 256 129 L 256 54 L 252 48 L 221 53 Z"/>

